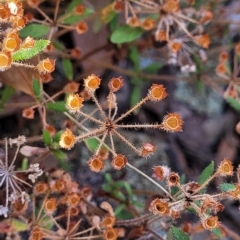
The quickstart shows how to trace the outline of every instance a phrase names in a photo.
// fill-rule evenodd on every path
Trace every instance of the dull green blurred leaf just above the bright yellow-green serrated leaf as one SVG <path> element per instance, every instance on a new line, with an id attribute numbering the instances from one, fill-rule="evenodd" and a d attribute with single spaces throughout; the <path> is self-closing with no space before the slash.
<path id="1" fill-rule="evenodd" d="M 20 37 L 41 38 L 44 37 L 49 31 L 50 31 L 49 26 L 39 23 L 30 23 L 20 31 Z"/>

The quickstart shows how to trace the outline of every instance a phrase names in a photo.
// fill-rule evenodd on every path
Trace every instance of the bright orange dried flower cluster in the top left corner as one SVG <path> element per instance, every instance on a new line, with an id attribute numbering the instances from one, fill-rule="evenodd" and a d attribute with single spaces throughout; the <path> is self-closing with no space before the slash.
<path id="1" fill-rule="evenodd" d="M 2 30 L 2 42 L 0 50 L 0 71 L 5 71 L 11 66 L 24 66 L 37 69 L 40 73 L 51 73 L 55 69 L 55 61 L 49 58 L 40 61 L 37 66 L 21 63 L 18 59 L 21 51 L 30 51 L 36 45 L 36 40 L 27 37 L 21 40 L 19 31 L 25 27 L 27 19 L 24 17 L 21 1 L 9 0 L 0 3 L 0 25 Z M 8 27 L 6 27 L 8 24 Z M 30 58 L 30 57 L 28 57 Z"/>

